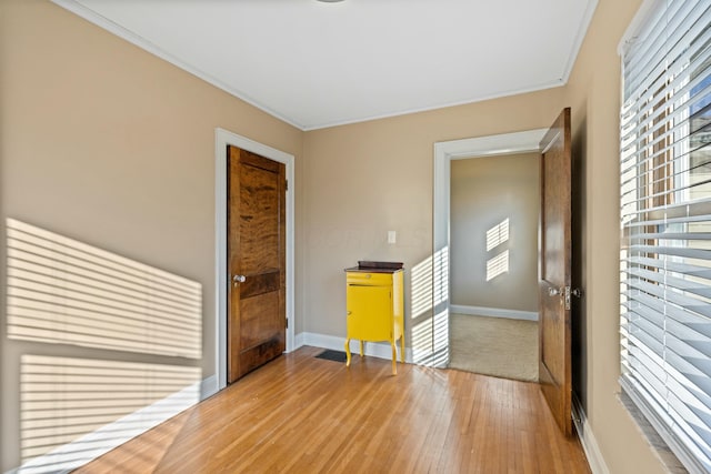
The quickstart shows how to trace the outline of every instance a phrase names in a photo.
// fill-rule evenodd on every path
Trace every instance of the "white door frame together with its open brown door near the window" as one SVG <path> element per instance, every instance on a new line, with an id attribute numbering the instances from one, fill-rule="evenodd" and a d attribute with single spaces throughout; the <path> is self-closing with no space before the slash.
<path id="1" fill-rule="evenodd" d="M 567 435 L 572 433 L 570 321 L 571 296 L 571 112 L 561 111 L 549 129 L 434 145 L 433 253 L 450 250 L 451 160 L 517 152 L 541 153 L 541 206 L 539 233 L 539 384 L 551 412 Z M 450 270 L 443 259 L 433 265 L 439 284 L 442 327 L 439 344 L 449 362 Z M 580 294 L 578 292 L 578 294 Z"/>

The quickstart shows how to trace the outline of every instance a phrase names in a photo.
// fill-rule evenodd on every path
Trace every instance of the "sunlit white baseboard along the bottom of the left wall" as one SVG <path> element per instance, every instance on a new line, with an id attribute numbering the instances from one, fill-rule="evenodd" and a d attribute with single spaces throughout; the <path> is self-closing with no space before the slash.
<path id="1" fill-rule="evenodd" d="M 158 426 L 217 392 L 218 377 L 217 375 L 209 376 L 113 423 L 88 433 L 71 443 L 64 444 L 42 456 L 34 457 L 20 467 L 9 471 L 9 473 L 69 473 Z"/>

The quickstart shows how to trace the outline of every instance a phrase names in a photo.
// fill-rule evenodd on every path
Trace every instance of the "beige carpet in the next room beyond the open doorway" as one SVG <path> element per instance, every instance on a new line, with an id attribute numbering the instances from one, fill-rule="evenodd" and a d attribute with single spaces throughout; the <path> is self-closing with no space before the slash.
<path id="1" fill-rule="evenodd" d="M 449 366 L 538 381 L 538 322 L 450 314 Z"/>

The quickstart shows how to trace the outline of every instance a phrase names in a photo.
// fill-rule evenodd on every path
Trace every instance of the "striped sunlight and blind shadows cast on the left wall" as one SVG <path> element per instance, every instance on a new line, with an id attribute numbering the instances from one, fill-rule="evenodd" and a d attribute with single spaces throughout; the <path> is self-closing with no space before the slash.
<path id="1" fill-rule="evenodd" d="M 6 224 L 8 337 L 48 344 L 20 357 L 20 472 L 71 470 L 198 401 L 199 283 L 18 220 Z M 50 344 L 78 356 L 48 355 Z M 86 359 L 81 347 L 111 357 Z"/>

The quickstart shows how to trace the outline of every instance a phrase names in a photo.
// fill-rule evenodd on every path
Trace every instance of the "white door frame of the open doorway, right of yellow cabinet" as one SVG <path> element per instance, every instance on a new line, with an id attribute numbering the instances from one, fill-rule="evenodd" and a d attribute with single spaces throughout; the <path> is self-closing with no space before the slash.
<path id="1" fill-rule="evenodd" d="M 433 188 L 433 223 L 432 223 L 432 254 L 449 254 L 450 248 L 450 164 L 453 160 L 467 160 L 470 158 L 495 157 L 539 152 L 540 142 L 548 129 L 533 129 L 522 132 L 502 133 L 497 135 L 478 137 L 461 140 L 451 140 L 434 143 L 434 188 Z M 440 347 L 444 354 L 438 357 L 441 361 L 438 366 L 447 366 L 449 363 L 449 307 L 450 307 L 450 272 L 449 259 L 433 259 L 433 281 L 438 288 L 432 288 L 434 294 L 440 297 L 442 309 L 447 311 L 447 317 L 438 322 L 437 331 L 432 327 L 432 334 L 441 334 L 442 341 L 435 341 L 434 346 Z M 435 309 L 433 309 L 435 310 Z M 433 321 L 434 323 L 434 321 Z M 444 337 L 447 340 L 444 341 Z M 445 347 L 444 347 L 445 346 Z"/>

